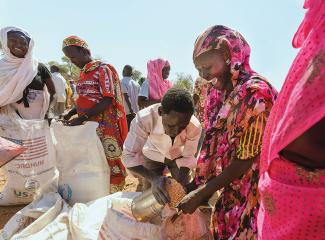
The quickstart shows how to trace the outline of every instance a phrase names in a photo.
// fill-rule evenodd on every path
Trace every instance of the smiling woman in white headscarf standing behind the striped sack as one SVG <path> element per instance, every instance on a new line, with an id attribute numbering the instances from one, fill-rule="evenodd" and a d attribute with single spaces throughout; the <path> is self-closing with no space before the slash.
<path id="1" fill-rule="evenodd" d="M 24 119 L 44 119 L 55 94 L 51 74 L 33 56 L 34 41 L 23 29 L 0 30 L 0 108 L 13 107 Z"/>

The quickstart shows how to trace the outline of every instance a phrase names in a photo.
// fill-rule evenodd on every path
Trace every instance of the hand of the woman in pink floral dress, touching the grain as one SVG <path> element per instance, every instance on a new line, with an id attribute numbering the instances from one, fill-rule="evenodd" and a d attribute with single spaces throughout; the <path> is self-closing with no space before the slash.
<path id="1" fill-rule="evenodd" d="M 183 213 L 192 214 L 203 202 L 201 188 L 198 188 L 187 194 L 178 204 L 177 208 Z"/>

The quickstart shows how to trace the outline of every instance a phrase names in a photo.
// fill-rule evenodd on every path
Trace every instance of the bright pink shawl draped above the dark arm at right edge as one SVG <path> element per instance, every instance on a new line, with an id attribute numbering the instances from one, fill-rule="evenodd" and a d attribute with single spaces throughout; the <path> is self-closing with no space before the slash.
<path id="1" fill-rule="evenodd" d="M 301 47 L 273 106 L 264 132 L 261 173 L 278 153 L 325 116 L 325 2 L 307 0 L 294 38 Z"/>

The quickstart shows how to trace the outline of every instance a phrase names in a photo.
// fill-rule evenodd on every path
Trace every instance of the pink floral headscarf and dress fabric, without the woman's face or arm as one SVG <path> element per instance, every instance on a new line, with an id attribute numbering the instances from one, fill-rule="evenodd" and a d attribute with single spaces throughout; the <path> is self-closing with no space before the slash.
<path id="1" fill-rule="evenodd" d="M 234 88 L 231 92 L 209 89 L 206 138 L 198 159 L 196 181 L 198 184 L 207 182 L 234 159 L 254 158 L 252 167 L 223 189 L 213 211 L 212 225 L 215 239 L 256 239 L 261 138 L 277 93 L 266 79 L 250 68 L 250 48 L 232 29 L 209 28 L 199 36 L 193 57 L 224 47 L 231 53 Z"/>

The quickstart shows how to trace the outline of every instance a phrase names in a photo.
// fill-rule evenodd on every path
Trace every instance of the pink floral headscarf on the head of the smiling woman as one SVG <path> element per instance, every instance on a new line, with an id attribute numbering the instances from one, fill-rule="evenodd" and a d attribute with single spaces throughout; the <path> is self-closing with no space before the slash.
<path id="1" fill-rule="evenodd" d="M 193 60 L 210 50 L 229 51 L 230 59 L 226 63 L 230 64 L 233 87 L 238 81 L 246 79 L 247 74 L 254 73 L 249 65 L 251 49 L 239 32 L 222 25 L 208 28 L 195 41 Z"/>

